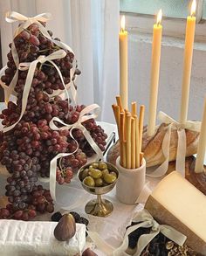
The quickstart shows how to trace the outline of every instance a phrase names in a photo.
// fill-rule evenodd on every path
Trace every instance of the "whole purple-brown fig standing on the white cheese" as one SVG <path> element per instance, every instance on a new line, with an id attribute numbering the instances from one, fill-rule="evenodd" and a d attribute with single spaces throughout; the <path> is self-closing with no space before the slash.
<path id="1" fill-rule="evenodd" d="M 54 229 L 54 237 L 58 239 L 58 241 L 67 241 L 72 239 L 76 232 L 76 223 L 72 214 L 66 213 L 62 218 L 58 221 L 58 225 L 56 225 Z"/>

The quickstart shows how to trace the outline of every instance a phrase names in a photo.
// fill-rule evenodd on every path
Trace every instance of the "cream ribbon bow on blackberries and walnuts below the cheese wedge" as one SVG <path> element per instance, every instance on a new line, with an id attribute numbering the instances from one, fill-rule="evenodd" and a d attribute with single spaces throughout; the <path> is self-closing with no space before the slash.
<path id="1" fill-rule="evenodd" d="M 150 228 L 151 231 L 148 234 L 142 234 L 140 239 L 137 242 L 137 251 L 134 253 L 134 256 L 140 256 L 142 251 L 148 244 L 154 239 L 160 232 L 166 236 L 168 239 L 174 241 L 177 245 L 183 246 L 187 237 L 183 235 L 181 232 L 176 231 L 173 227 L 169 225 L 160 225 L 157 221 L 154 220 L 152 215 L 146 210 L 142 210 L 137 212 L 133 218 L 133 222 L 138 224 L 132 225 L 127 228 L 127 232 L 125 233 L 124 240 L 120 247 L 113 248 L 100 238 L 100 235 L 97 232 L 88 232 L 90 238 L 93 240 L 94 244 L 106 255 L 110 256 L 120 256 L 120 255 L 128 255 L 126 252 L 128 248 L 128 235 L 140 227 Z"/>

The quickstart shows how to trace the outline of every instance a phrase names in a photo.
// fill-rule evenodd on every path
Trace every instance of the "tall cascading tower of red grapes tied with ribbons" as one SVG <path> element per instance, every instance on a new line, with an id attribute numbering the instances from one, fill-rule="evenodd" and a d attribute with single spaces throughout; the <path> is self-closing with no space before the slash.
<path id="1" fill-rule="evenodd" d="M 52 37 L 52 31 L 48 33 Z M 54 39 L 60 41 L 58 38 Z M 48 56 L 60 49 L 52 40 L 45 38 L 38 24 L 31 24 L 24 29 L 14 38 L 14 44 L 20 62 L 31 62 L 38 59 L 40 55 Z M 72 78 L 70 77 L 74 55 L 68 50 L 65 52 L 65 58 L 53 61 L 67 84 L 80 72 L 75 66 L 75 73 Z M 7 68 L 1 80 L 9 86 L 17 67 L 11 50 L 7 57 Z M 74 63 L 76 65 L 76 62 Z M 7 108 L 3 109 L 0 114 L 4 127 L 14 124 L 21 114 L 27 73 L 27 70 L 18 71 L 17 84 L 14 87 L 17 102 L 9 101 Z M 21 121 L 12 130 L 6 133 L 0 132 L 0 162 L 10 172 L 5 187 L 5 195 L 8 197 L 9 204 L 0 210 L 0 218 L 28 220 L 34 218 L 37 211 L 52 212 L 53 203 L 50 191 L 38 186 L 38 175 L 50 176 L 52 158 L 58 153 L 73 153 L 79 144 L 79 149 L 75 154 L 58 160 L 57 182 L 59 184 L 70 183 L 73 172 L 86 163 L 87 156 L 94 154 L 81 130 L 77 128 L 72 130 L 75 141 L 68 129 L 56 131 L 49 127 L 49 122 L 53 117 L 58 117 L 66 124 L 74 124 L 79 120 L 79 114 L 85 108 L 84 105 L 72 107 L 70 99 L 62 100 L 60 96 L 51 96 L 55 91 L 64 89 L 56 68 L 49 62 L 38 63 Z M 57 122 L 55 124 L 60 128 Z M 104 130 L 93 119 L 82 124 L 103 151 L 106 145 Z"/>

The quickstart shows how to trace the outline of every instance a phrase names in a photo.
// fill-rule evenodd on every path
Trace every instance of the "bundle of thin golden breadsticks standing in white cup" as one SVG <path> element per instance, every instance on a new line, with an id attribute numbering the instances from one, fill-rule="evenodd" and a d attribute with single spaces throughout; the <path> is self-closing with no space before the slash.
<path id="1" fill-rule="evenodd" d="M 138 116 L 136 102 L 132 102 L 129 112 L 123 109 L 120 96 L 117 96 L 116 100 L 117 104 L 112 107 L 120 140 L 120 165 L 126 169 L 137 169 L 141 166 L 143 158 L 141 142 L 145 107 L 141 105 Z"/>

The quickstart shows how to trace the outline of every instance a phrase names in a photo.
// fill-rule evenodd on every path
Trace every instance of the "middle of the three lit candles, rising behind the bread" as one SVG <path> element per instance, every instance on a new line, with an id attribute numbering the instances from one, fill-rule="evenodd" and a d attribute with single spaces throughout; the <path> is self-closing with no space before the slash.
<path id="1" fill-rule="evenodd" d="M 151 62 L 151 81 L 150 81 L 150 99 L 149 99 L 149 114 L 148 114 L 148 135 L 154 135 L 156 121 L 156 106 L 159 85 L 160 60 L 161 60 L 161 16 L 159 10 L 156 24 L 153 28 L 153 48 Z"/>

